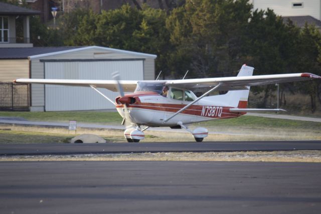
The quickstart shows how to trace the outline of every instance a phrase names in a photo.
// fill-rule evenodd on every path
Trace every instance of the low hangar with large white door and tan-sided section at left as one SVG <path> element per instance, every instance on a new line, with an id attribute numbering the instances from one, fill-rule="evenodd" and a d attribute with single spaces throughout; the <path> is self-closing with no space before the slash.
<path id="1" fill-rule="evenodd" d="M 0 48 L 0 81 L 112 79 L 114 71 L 124 80 L 154 80 L 155 58 L 152 54 L 99 46 Z M 30 111 L 114 109 L 114 105 L 90 87 L 32 84 L 29 90 Z M 99 90 L 111 98 L 118 95 L 107 89 Z M 0 97 L 1 93 L 0 88 Z"/>

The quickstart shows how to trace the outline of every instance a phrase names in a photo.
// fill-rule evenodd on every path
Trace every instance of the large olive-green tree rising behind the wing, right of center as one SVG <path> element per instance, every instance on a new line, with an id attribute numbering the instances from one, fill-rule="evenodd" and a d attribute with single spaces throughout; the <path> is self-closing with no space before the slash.
<path id="1" fill-rule="evenodd" d="M 189 61 L 191 70 L 199 76 L 231 75 L 229 72 L 240 64 L 251 7 L 246 0 L 186 1 L 167 21 L 177 53 L 173 58 L 186 58 L 183 64 Z"/>

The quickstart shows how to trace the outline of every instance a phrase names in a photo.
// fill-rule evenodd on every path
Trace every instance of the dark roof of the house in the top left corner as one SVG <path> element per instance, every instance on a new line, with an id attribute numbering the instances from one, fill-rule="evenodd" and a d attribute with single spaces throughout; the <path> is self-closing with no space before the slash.
<path id="1" fill-rule="evenodd" d="M 0 15 L 40 15 L 40 11 L 0 2 Z"/>

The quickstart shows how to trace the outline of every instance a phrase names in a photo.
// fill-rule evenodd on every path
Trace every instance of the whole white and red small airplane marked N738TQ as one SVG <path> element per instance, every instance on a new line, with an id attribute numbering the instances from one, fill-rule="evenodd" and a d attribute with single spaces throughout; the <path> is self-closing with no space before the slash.
<path id="1" fill-rule="evenodd" d="M 16 83 L 39 83 L 52 85 L 91 87 L 115 105 L 127 124 L 124 137 L 128 142 L 144 139 L 149 127 L 185 129 L 197 142 L 208 136 L 208 130 L 198 127 L 190 130 L 188 125 L 204 121 L 237 118 L 249 112 L 279 112 L 282 109 L 247 109 L 250 86 L 321 79 L 311 73 L 273 74 L 252 76 L 253 67 L 243 65 L 236 77 L 200 78 L 181 80 L 120 80 L 113 73 L 113 80 L 72 79 L 16 79 Z M 118 91 L 115 100 L 105 96 L 97 88 Z M 206 90 L 197 97 L 193 89 Z M 126 92 L 132 92 L 127 93 Z M 209 95 L 214 91 L 226 94 Z M 129 125 L 129 126 L 128 126 Z"/>

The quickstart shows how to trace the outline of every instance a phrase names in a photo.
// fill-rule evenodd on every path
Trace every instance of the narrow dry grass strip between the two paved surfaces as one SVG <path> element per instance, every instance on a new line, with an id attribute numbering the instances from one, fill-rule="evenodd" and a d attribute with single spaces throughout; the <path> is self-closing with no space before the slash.
<path id="1" fill-rule="evenodd" d="M 0 161 L 263 161 L 321 162 L 321 151 L 2 156 Z"/>

